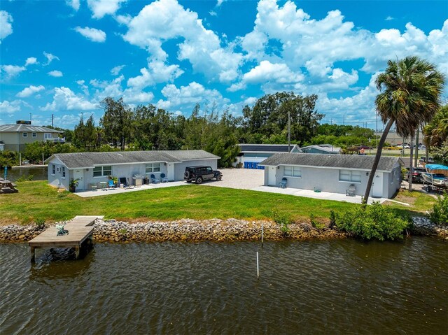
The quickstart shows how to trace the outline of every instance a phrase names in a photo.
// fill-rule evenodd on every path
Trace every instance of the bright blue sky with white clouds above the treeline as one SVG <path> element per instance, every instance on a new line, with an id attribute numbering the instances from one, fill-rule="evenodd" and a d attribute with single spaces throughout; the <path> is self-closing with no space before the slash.
<path id="1" fill-rule="evenodd" d="M 0 0 L 0 42 L 0 124 L 99 124 L 105 97 L 241 115 L 293 91 L 318 94 L 324 122 L 374 128 L 388 59 L 448 74 L 448 1 Z"/>

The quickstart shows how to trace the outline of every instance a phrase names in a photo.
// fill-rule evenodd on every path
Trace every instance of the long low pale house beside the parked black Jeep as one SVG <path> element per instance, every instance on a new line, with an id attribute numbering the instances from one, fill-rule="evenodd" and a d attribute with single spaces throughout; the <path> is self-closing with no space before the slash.
<path id="1" fill-rule="evenodd" d="M 170 181 L 183 180 L 186 166 L 217 169 L 220 158 L 204 150 L 74 152 L 52 155 L 45 163 L 50 185 L 68 190 L 70 180 L 78 179 L 76 190 L 90 190 L 110 176 L 142 180 L 164 173 Z"/>

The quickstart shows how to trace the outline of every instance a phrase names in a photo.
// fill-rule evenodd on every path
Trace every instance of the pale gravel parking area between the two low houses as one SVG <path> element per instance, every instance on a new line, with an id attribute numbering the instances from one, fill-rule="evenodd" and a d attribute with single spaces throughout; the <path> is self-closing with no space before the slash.
<path id="1" fill-rule="evenodd" d="M 255 169 L 218 169 L 223 173 L 223 180 L 204 181 L 202 185 L 230 187 L 240 190 L 252 190 L 265 183 L 265 170 Z"/>

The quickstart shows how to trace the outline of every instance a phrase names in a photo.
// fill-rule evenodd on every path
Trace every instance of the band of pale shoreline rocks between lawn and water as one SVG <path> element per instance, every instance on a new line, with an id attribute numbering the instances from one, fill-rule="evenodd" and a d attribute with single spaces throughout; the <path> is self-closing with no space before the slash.
<path id="1" fill-rule="evenodd" d="M 444 236 L 444 230 L 436 227 L 427 218 L 412 218 L 412 234 L 424 236 Z M 56 222 L 55 224 L 63 223 Z M 13 224 L 0 227 L 1 242 L 29 241 L 44 229 L 55 224 L 46 224 L 38 229 L 36 225 L 22 226 Z M 272 221 L 248 221 L 237 219 L 149 221 L 128 223 L 116 220 L 96 220 L 93 238 L 97 242 L 160 242 L 160 241 L 258 241 L 261 239 L 261 227 L 265 240 L 283 239 L 331 239 L 346 238 L 348 234 L 336 229 L 324 227 L 316 229 L 308 222 L 288 224 L 287 231 Z"/>

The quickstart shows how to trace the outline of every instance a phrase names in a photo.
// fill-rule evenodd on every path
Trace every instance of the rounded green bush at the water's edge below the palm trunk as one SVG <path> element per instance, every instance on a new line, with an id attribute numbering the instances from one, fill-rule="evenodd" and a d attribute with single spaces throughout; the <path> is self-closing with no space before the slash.
<path id="1" fill-rule="evenodd" d="M 395 215 L 391 209 L 374 202 L 371 206 L 359 206 L 343 215 L 335 215 L 336 227 L 366 240 L 395 240 L 403 237 L 409 221 Z"/>

